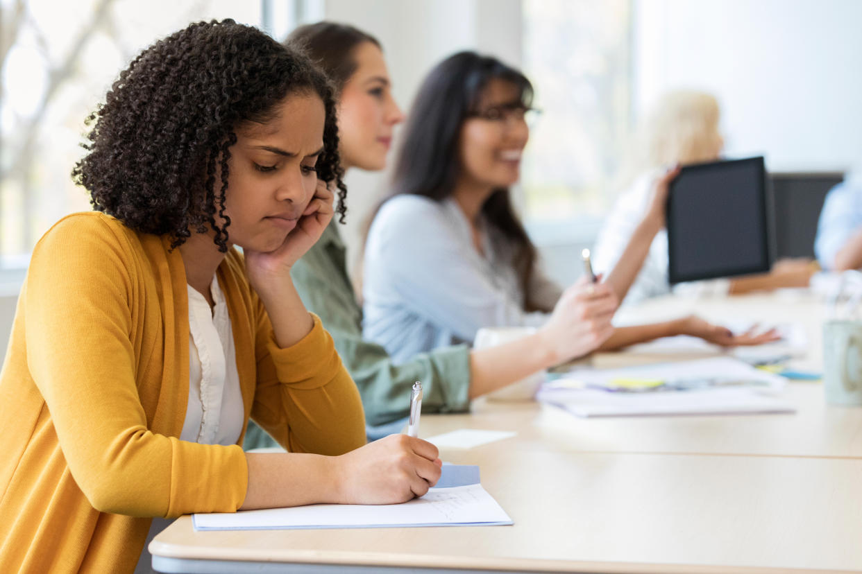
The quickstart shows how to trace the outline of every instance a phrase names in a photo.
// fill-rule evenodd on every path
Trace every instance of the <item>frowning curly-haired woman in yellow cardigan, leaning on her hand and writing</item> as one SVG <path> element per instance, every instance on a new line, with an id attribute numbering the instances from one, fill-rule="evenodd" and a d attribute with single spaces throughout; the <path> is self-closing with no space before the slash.
<path id="1" fill-rule="evenodd" d="M 0 374 L 0 571 L 133 571 L 159 518 L 434 485 L 428 442 L 363 446 L 290 281 L 330 188 L 344 213 L 334 106 L 308 59 L 229 20 L 122 71 L 73 170 L 96 211 L 35 247 Z M 243 453 L 249 417 L 290 452 Z"/>

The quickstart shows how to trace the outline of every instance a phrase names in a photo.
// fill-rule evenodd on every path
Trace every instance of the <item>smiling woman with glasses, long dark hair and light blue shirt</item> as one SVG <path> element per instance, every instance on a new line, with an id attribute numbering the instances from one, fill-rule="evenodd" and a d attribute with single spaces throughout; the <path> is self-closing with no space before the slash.
<path id="1" fill-rule="evenodd" d="M 521 72 L 475 52 L 444 60 L 422 84 L 405 128 L 393 194 L 379 208 L 365 244 L 363 333 L 394 361 L 471 343 L 482 327 L 547 325 L 569 299 L 600 298 L 595 312 L 604 321 L 610 301 L 624 296 L 664 226 L 667 184 L 677 170 L 656 182 L 608 281 L 582 280 L 564 291 L 547 279 L 509 195 L 529 137 L 532 96 Z M 582 317 L 594 319 L 591 312 Z M 734 336 L 693 317 L 613 334 L 605 325 L 579 354 L 678 334 L 724 345 L 764 340 Z M 577 332 L 573 326 L 570 336 Z"/>

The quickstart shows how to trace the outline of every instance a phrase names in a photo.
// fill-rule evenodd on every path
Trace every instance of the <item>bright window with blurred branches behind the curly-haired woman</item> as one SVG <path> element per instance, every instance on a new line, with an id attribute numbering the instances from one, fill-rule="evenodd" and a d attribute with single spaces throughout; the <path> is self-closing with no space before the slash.
<path id="1" fill-rule="evenodd" d="M 84 153 L 84 118 L 144 47 L 189 22 L 228 17 L 280 39 L 314 16 L 315 6 L 309 0 L 0 0 L 0 268 L 26 266 L 50 225 L 91 209 L 70 176 Z"/>

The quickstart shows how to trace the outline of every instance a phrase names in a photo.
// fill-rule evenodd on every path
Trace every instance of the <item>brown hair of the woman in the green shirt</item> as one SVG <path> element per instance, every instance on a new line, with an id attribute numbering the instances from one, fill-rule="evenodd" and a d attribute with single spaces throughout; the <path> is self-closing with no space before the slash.
<path id="1" fill-rule="evenodd" d="M 334 84 L 335 98 L 338 99 L 344 84 L 357 68 L 353 52 L 365 42 L 380 47 L 377 38 L 359 28 L 323 21 L 296 28 L 284 40 L 284 46 L 304 52 L 319 66 Z"/>

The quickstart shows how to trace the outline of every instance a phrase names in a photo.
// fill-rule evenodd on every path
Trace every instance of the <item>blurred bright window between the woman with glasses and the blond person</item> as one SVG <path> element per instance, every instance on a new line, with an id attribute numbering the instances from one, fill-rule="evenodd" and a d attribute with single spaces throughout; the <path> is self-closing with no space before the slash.
<path id="1" fill-rule="evenodd" d="M 523 0 L 523 68 L 543 110 L 522 184 L 534 228 L 609 208 L 630 129 L 630 0 Z"/>

